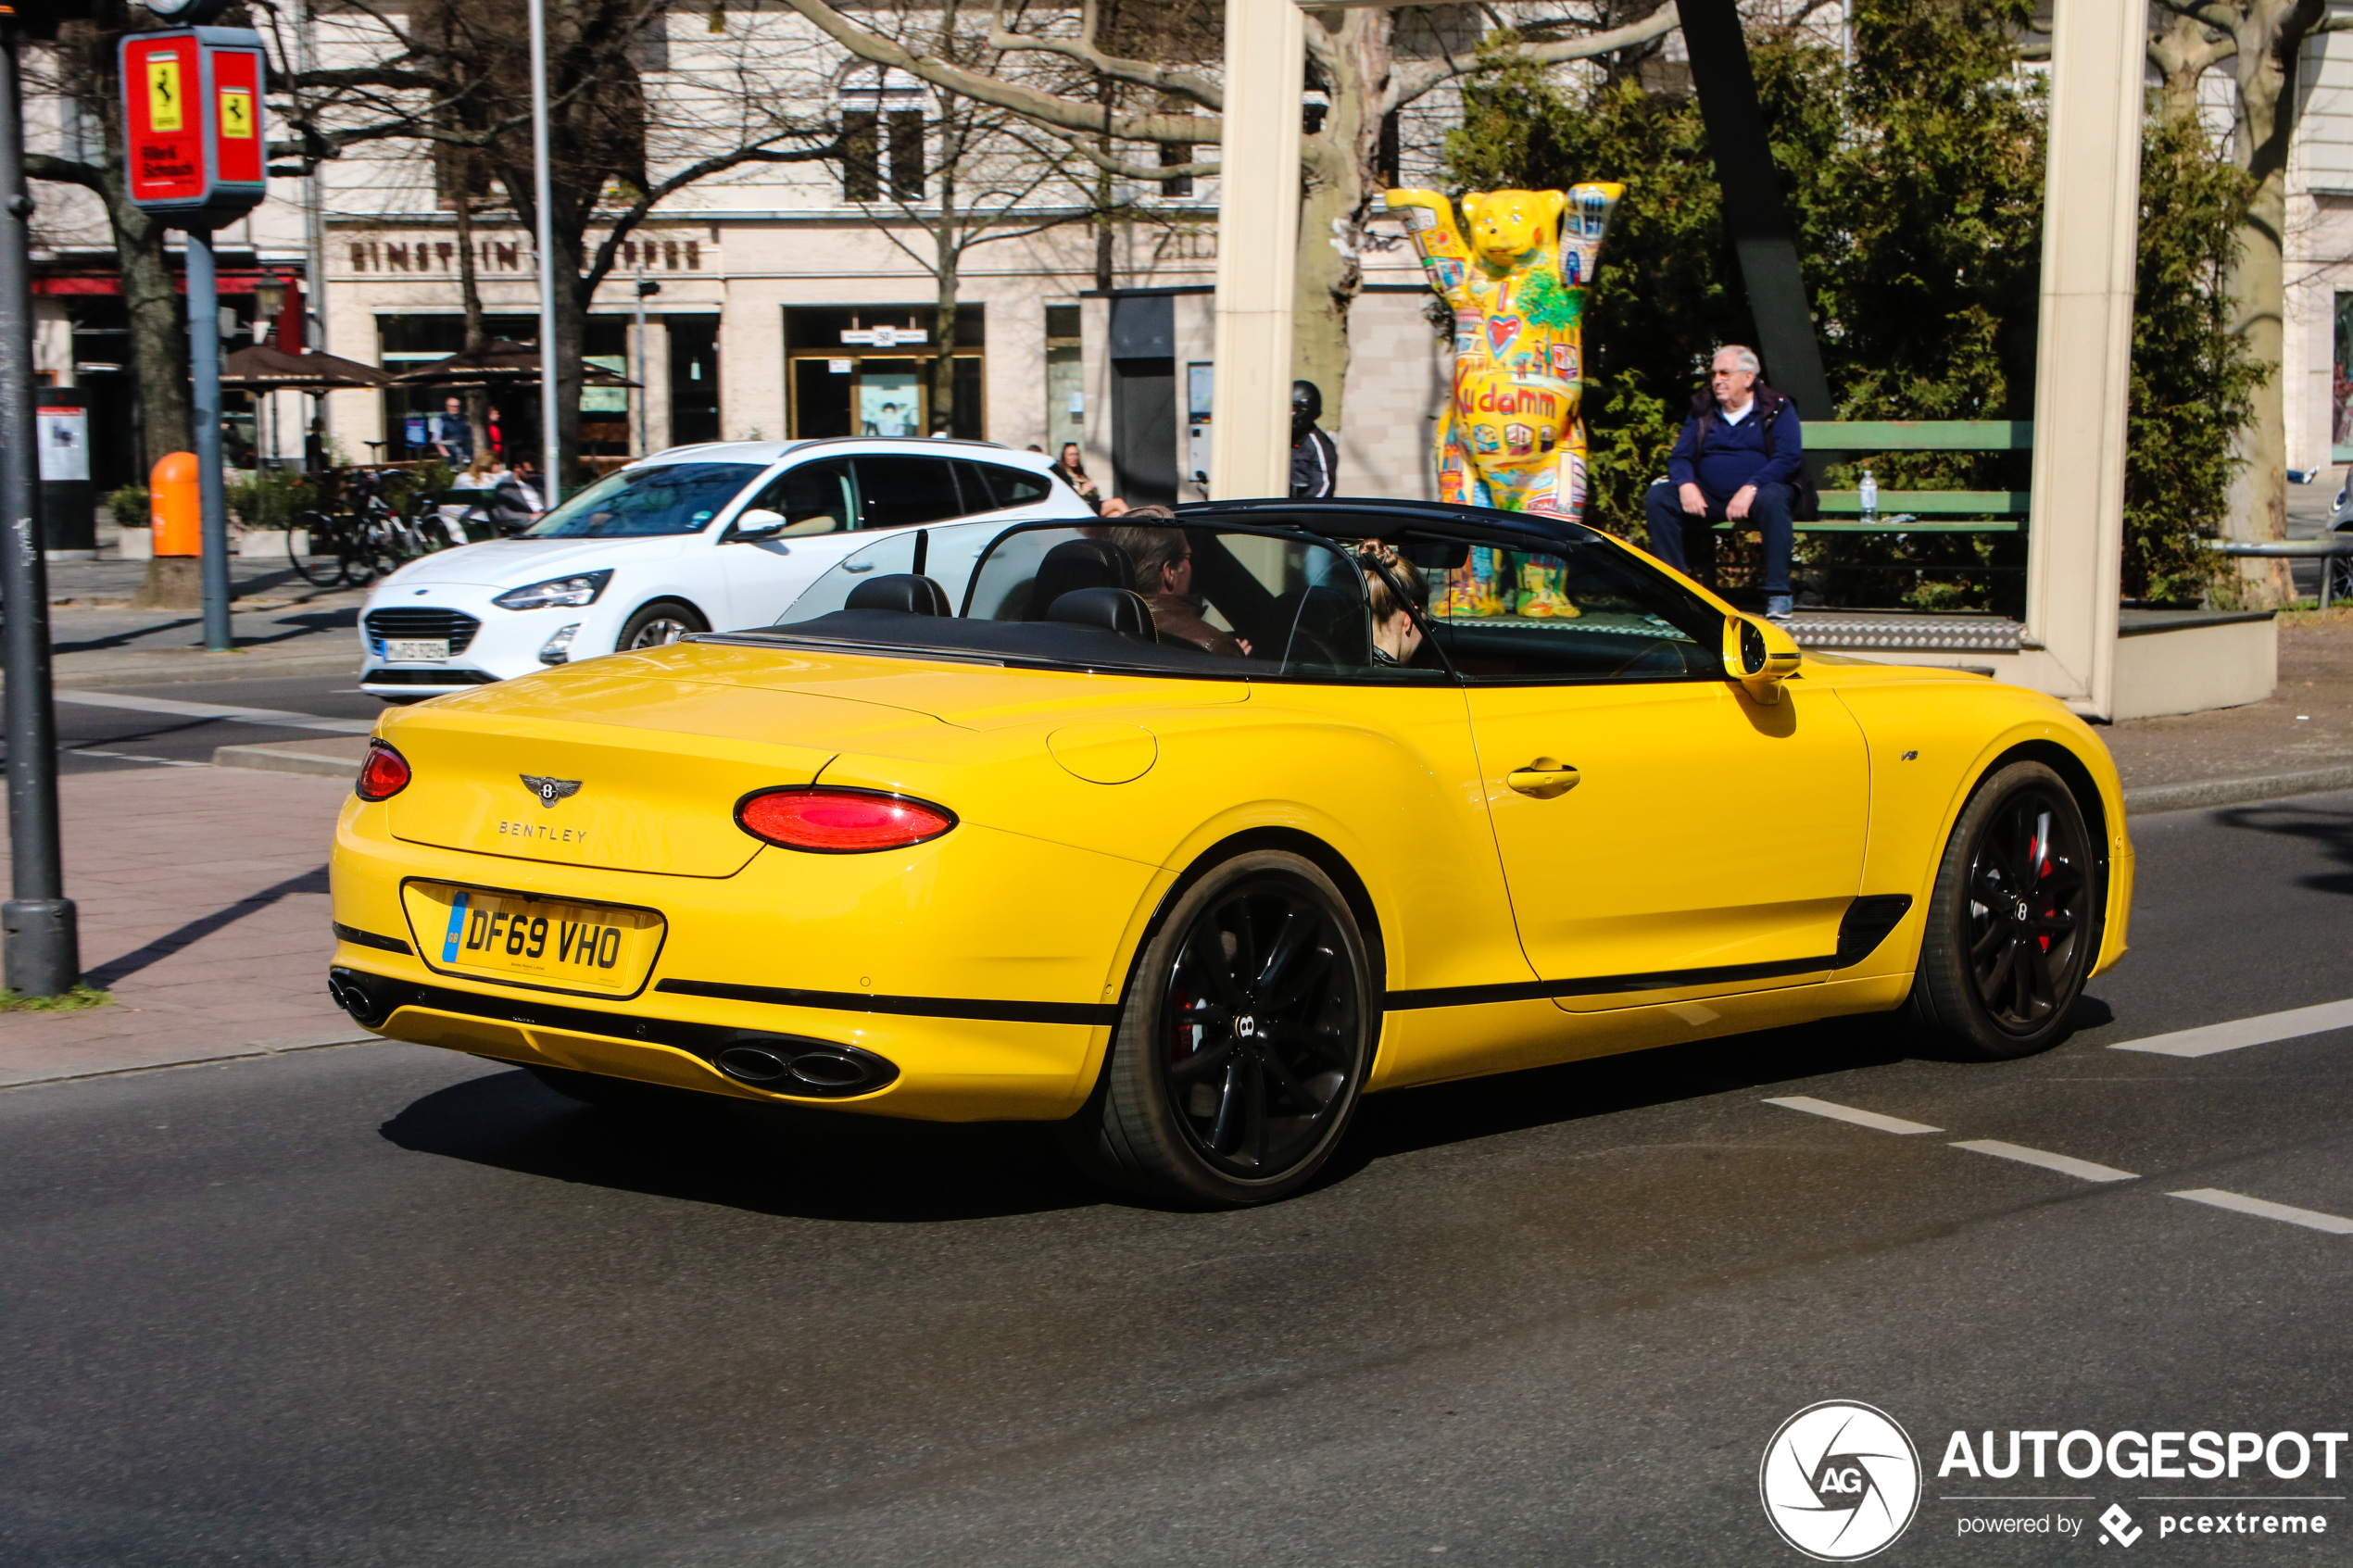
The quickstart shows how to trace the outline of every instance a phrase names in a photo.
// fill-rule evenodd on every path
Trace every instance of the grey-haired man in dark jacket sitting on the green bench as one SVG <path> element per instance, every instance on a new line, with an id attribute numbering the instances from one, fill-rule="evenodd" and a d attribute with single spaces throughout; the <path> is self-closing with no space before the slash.
<path id="1" fill-rule="evenodd" d="M 1649 552 L 1678 571 L 1713 574 L 1715 522 L 1755 522 L 1765 534 L 1765 614 L 1788 621 L 1788 555 L 1795 541 L 1791 508 L 1805 433 L 1798 404 L 1758 381 L 1753 348 L 1715 350 L 1708 390 L 1692 397 L 1666 477 L 1649 487 Z"/>

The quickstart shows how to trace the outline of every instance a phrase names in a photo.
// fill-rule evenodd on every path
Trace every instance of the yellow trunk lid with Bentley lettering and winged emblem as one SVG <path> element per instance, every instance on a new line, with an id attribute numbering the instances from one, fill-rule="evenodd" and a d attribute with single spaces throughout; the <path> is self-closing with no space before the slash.
<path id="1" fill-rule="evenodd" d="M 739 799 L 809 783 L 840 750 L 908 726 L 939 719 L 581 665 L 388 717 L 381 733 L 412 771 L 388 802 L 391 827 L 435 849 L 732 877 L 760 851 L 736 827 Z"/>

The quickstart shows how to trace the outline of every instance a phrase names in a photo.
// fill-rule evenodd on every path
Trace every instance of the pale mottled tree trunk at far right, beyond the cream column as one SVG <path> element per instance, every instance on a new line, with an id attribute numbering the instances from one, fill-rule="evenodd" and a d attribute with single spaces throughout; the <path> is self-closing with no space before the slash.
<path id="1" fill-rule="evenodd" d="M 2224 287 L 2231 294 L 2233 331 L 2247 341 L 2268 374 L 2254 397 L 2254 418 L 2240 433 L 2240 470 L 2231 484 L 2233 538 L 2287 538 L 2287 388 L 2285 388 L 2285 294 L 2287 268 L 2287 148 L 2297 132 L 2297 99 L 2289 73 L 2306 33 L 2320 21 L 2322 0 L 2240 0 L 2235 42 L 2238 115 L 2231 136 L 2233 162 L 2254 179 L 2254 200 L 2240 226 L 2238 261 Z M 2240 595 L 2249 604 L 2285 604 L 2294 597 L 2287 562 L 2242 559 Z"/>

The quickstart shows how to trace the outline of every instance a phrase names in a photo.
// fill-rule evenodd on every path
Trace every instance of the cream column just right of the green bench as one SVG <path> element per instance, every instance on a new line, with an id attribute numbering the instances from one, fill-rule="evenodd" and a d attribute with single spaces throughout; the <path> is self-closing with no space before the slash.
<path id="1" fill-rule="evenodd" d="M 2148 0 L 2057 5 L 2026 635 L 2052 693 L 2094 717 L 2115 693 L 2146 40 Z"/>

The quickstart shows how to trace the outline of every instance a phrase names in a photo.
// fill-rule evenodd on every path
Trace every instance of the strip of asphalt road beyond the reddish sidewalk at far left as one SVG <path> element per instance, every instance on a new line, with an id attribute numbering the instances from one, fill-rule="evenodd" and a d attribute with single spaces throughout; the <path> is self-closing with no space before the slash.
<path id="1" fill-rule="evenodd" d="M 374 722 L 384 703 L 353 684 L 353 675 L 296 675 L 280 679 L 186 682 L 162 686 L 108 686 L 113 696 L 155 698 L 158 705 L 221 703 L 226 708 L 261 708 L 322 719 Z M 264 741 L 318 741 L 322 731 L 282 724 L 195 719 L 181 712 L 141 712 L 136 708 L 101 708 L 82 691 L 56 693 L 59 773 L 104 773 L 115 769 L 169 766 L 174 762 L 212 762 L 219 745 L 254 745 Z M 7 748 L 0 745 L 0 757 Z"/>

